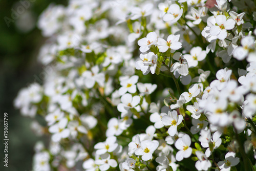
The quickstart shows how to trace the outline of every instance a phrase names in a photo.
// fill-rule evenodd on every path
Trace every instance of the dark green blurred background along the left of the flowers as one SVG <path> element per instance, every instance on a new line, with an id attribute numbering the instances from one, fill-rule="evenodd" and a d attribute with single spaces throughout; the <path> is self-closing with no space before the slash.
<path id="1" fill-rule="evenodd" d="M 36 27 L 37 18 L 50 3 L 66 0 L 0 1 L 0 170 L 32 170 L 34 144 L 42 138 L 30 129 L 31 118 L 20 115 L 13 106 L 17 93 L 42 71 L 38 51 L 46 38 Z M 8 168 L 4 167 L 4 113 L 8 113 Z"/>

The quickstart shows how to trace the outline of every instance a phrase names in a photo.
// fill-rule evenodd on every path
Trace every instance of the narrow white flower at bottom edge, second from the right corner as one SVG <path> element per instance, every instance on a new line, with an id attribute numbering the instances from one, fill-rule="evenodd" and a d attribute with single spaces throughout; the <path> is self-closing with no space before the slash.
<path id="1" fill-rule="evenodd" d="M 210 161 L 207 159 L 204 153 L 196 151 L 197 158 L 199 159 L 196 162 L 196 168 L 198 170 L 208 170 L 211 167 Z"/>

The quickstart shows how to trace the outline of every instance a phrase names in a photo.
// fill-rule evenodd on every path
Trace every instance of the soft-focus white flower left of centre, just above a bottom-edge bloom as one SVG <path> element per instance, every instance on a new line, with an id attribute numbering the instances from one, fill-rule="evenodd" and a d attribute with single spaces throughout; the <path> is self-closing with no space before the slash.
<path id="1" fill-rule="evenodd" d="M 116 143 L 116 137 L 110 136 L 106 138 L 105 142 L 98 142 L 94 145 L 94 148 L 97 149 L 96 154 L 102 155 L 106 152 L 113 152 L 117 148 L 118 144 Z"/>

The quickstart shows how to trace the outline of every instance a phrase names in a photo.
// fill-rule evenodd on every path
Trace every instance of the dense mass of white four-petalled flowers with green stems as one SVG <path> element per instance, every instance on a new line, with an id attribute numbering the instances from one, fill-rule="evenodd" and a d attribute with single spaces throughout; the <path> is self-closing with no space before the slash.
<path id="1" fill-rule="evenodd" d="M 70 0 L 14 105 L 33 170 L 256 170 L 256 1 Z M 40 123 L 39 123 L 40 119 Z"/>

